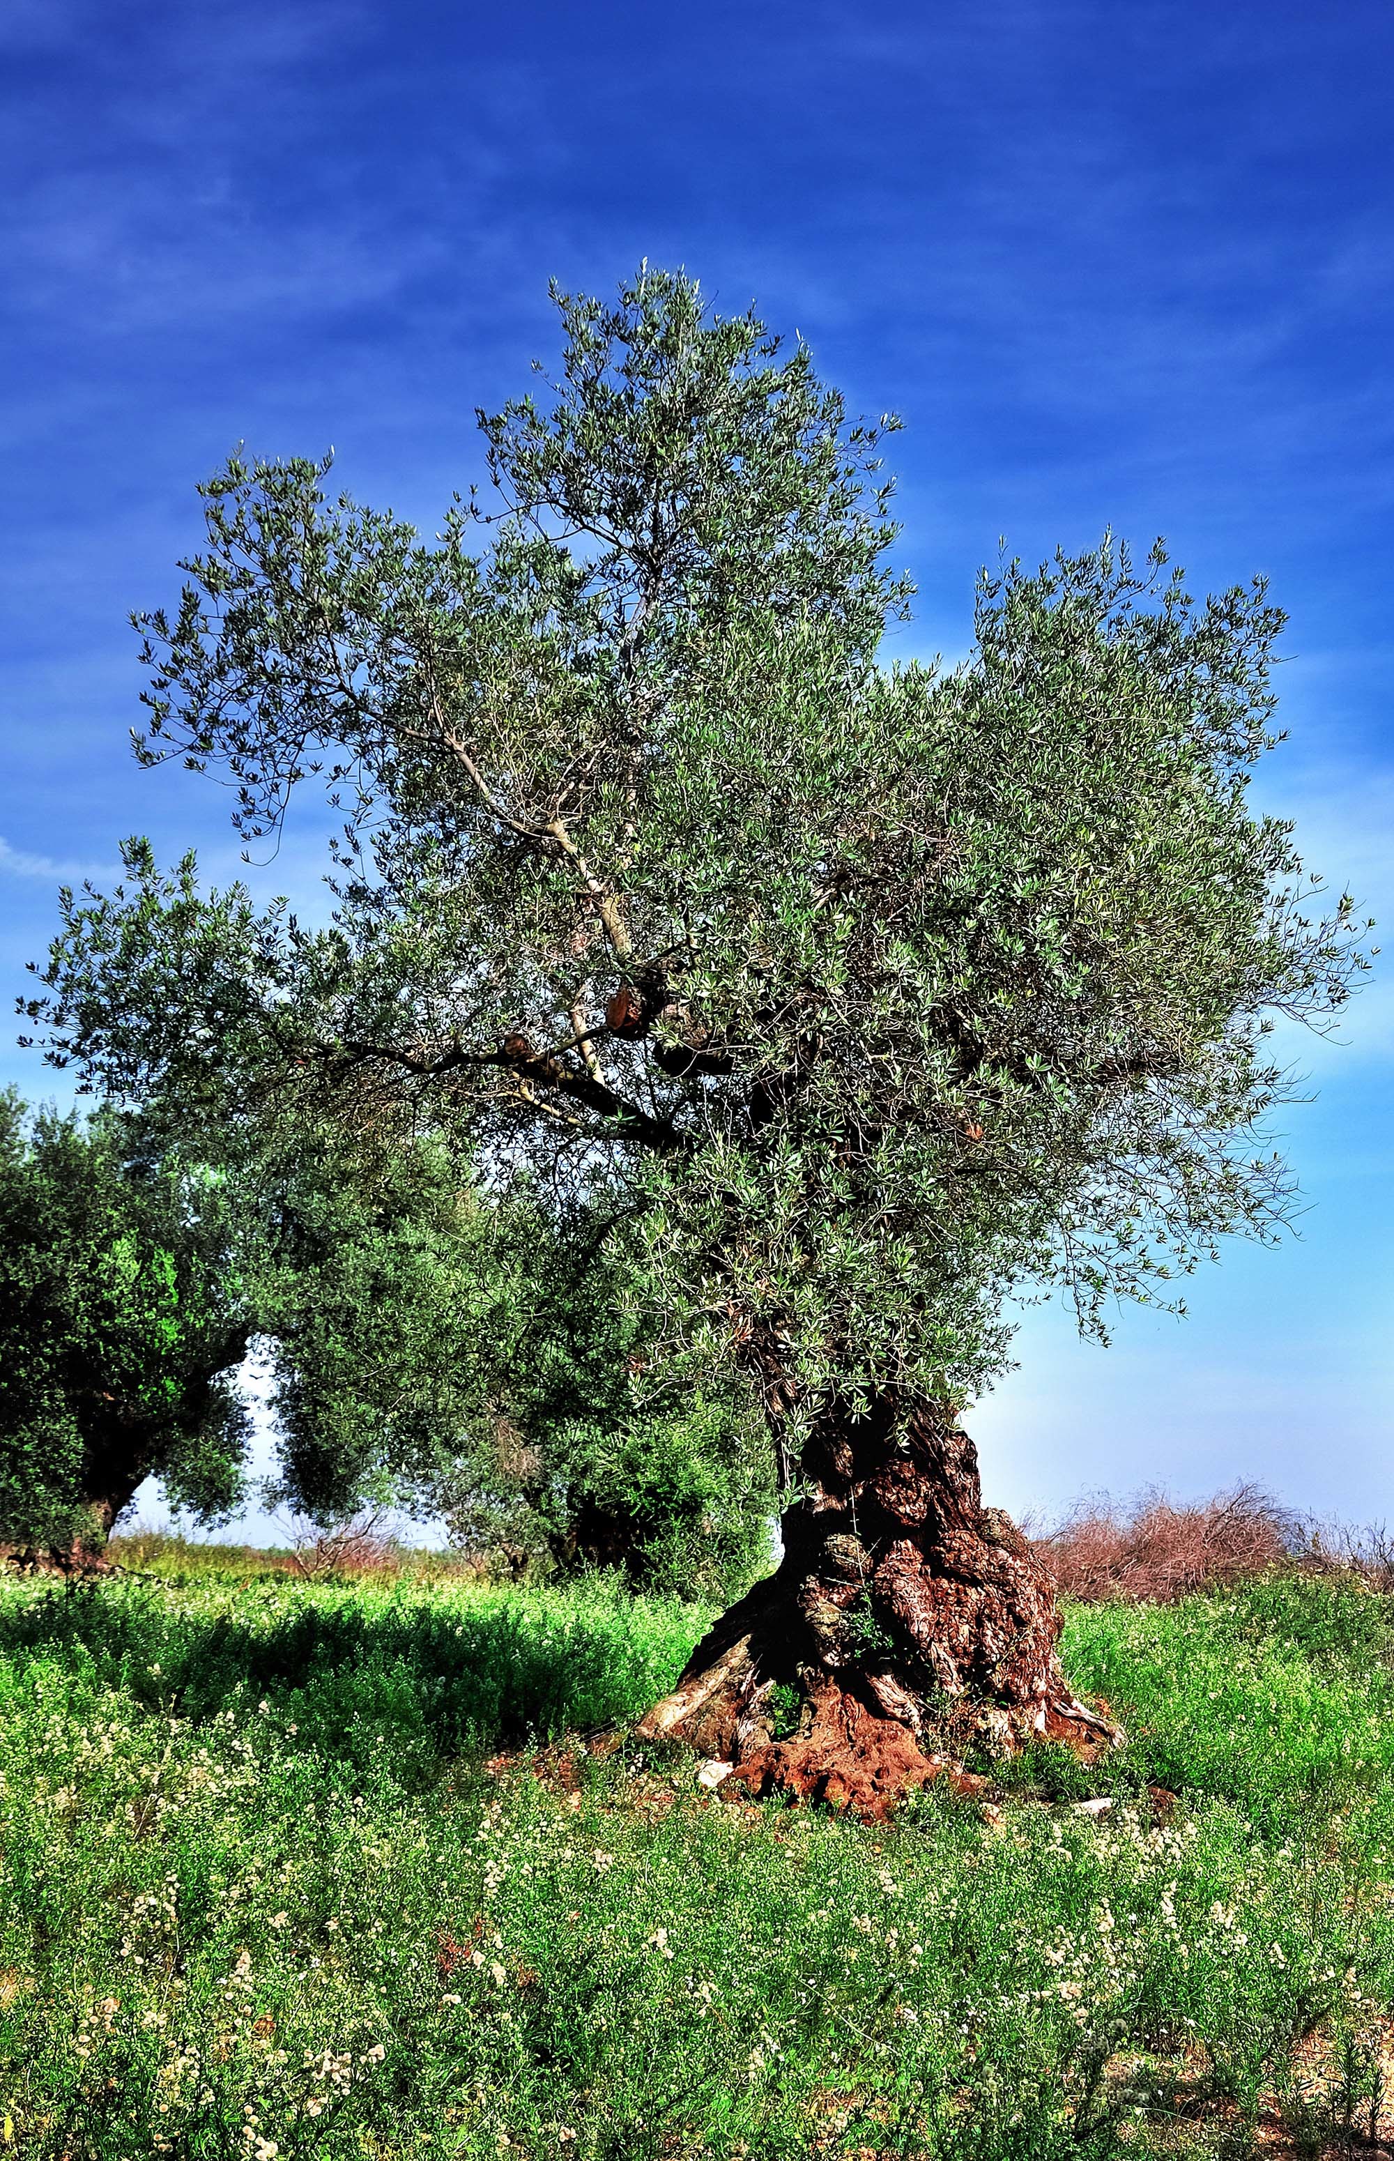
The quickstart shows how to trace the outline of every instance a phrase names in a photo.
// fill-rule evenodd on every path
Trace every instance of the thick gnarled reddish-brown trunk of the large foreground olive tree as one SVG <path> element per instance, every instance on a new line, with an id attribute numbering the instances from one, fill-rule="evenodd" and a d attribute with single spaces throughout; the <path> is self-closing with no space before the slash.
<path id="1" fill-rule="evenodd" d="M 882 1815 L 970 1746 L 1085 1753 L 1117 1729 L 1065 1683 L 1048 1571 L 998 1508 L 977 1450 L 925 1400 L 834 1405 L 804 1448 L 813 1491 L 785 1556 L 692 1653 L 640 1733 L 733 1763 L 752 1791 Z"/>

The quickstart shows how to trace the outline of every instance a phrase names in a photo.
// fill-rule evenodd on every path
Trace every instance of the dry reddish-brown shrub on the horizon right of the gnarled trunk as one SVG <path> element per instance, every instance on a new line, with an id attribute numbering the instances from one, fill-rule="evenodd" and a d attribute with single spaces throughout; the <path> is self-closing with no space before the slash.
<path id="1" fill-rule="evenodd" d="M 1033 1541 L 1065 1597 L 1148 1603 L 1221 1590 L 1290 1562 L 1305 1543 L 1301 1519 L 1251 1482 L 1206 1502 L 1152 1489 L 1122 1506 L 1096 1493 Z"/>

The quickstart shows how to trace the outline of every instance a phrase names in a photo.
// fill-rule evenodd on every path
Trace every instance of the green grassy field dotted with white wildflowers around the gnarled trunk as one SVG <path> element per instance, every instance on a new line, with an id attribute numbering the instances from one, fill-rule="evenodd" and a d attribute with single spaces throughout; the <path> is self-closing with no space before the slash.
<path id="1" fill-rule="evenodd" d="M 996 1820 L 929 1794 L 867 1830 L 709 1800 L 681 1759 L 530 1755 L 646 1705 L 702 1623 L 601 1582 L 4 1582 L 0 2142 L 1370 2150 L 1385 1599 L 1271 1575 L 1074 1608 L 1070 1677 L 1128 1750 L 1094 1783 L 1022 1766 Z"/>

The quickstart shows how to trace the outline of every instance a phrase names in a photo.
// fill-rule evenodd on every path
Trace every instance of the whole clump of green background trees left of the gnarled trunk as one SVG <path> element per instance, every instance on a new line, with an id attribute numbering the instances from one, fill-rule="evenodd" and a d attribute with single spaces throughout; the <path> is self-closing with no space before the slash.
<path id="1" fill-rule="evenodd" d="M 160 1124 L 0 1098 L 0 1543 L 99 1543 L 145 1478 L 203 1524 L 272 1506 L 445 1515 L 504 1567 L 718 1588 L 767 1552 L 750 1407 L 642 1383 L 616 1227 L 566 1238 L 430 1143 L 372 1165 L 179 1156 Z M 629 1262 L 633 1271 L 633 1262 Z M 646 1400 L 653 1398 L 653 1400 Z"/>

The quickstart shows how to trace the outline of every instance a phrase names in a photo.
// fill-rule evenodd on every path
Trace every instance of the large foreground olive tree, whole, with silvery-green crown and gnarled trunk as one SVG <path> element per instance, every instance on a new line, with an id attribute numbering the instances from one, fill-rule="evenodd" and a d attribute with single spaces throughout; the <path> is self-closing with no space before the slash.
<path id="1" fill-rule="evenodd" d="M 140 756 L 225 771 L 249 836 L 320 776 L 333 923 L 147 877 L 35 1011 L 108 1083 L 236 1068 L 635 1212 L 655 1344 L 743 1377 L 785 1493 L 651 1731 L 862 1802 L 947 1727 L 1098 1737 L 957 1420 L 1014 1290 L 1102 1331 L 1284 1219 L 1266 1031 L 1362 955 L 1247 804 L 1282 616 L 1107 540 L 983 577 L 962 666 L 890 666 L 890 424 L 685 277 L 558 303 L 558 380 L 480 417 L 488 501 L 421 540 L 238 456 L 138 618 Z"/>

